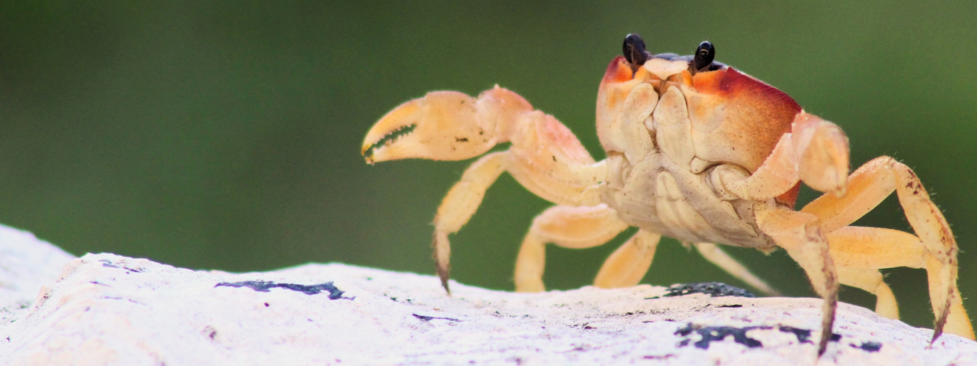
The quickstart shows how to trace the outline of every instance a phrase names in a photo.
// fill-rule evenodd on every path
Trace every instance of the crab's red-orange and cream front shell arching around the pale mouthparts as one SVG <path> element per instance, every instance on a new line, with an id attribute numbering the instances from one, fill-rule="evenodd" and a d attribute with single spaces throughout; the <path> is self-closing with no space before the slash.
<path id="1" fill-rule="evenodd" d="M 784 92 L 733 67 L 692 75 L 687 61 L 652 59 L 633 73 L 618 56 L 608 65 L 597 102 L 597 136 L 605 150 L 623 152 L 626 138 L 616 116 L 635 86 L 662 81 L 677 86 L 688 105 L 691 145 L 701 160 L 729 162 L 756 171 L 801 108 Z M 678 72 L 675 72 L 678 71 Z M 658 93 L 661 95 L 664 93 Z"/>

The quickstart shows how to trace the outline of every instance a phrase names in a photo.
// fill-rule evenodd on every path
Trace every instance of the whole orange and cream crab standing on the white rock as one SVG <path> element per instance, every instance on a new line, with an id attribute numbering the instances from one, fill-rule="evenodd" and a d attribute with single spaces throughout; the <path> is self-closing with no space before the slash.
<path id="1" fill-rule="evenodd" d="M 716 244 L 786 250 L 824 299 L 818 354 L 830 339 L 838 285 L 876 296 L 875 312 L 899 308 L 879 268 L 925 268 L 935 321 L 974 339 L 956 287 L 956 239 L 906 165 L 888 156 L 849 175 L 848 138 L 805 112 L 784 92 L 714 61 L 702 42 L 692 56 L 652 55 L 629 34 L 607 67 L 597 96 L 595 161 L 556 118 L 497 85 L 477 98 L 431 92 L 398 106 L 366 134 L 370 164 L 404 158 L 463 160 L 485 154 L 447 192 L 434 220 L 434 258 L 448 295 L 450 246 L 488 186 L 508 172 L 555 206 L 531 224 L 516 260 L 519 292 L 541 292 L 547 243 L 604 244 L 639 229 L 602 265 L 601 288 L 637 285 L 661 236 L 694 245 L 703 257 L 766 293 L 762 280 Z M 503 151 L 486 154 L 494 145 Z M 800 183 L 824 192 L 795 210 Z M 850 225 L 896 192 L 913 233 Z"/>

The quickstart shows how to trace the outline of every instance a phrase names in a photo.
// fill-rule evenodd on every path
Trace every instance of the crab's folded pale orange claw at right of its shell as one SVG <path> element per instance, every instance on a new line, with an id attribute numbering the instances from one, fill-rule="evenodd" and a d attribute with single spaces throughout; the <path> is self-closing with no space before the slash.
<path id="1" fill-rule="evenodd" d="M 822 192 L 845 194 L 849 172 L 848 137 L 841 129 L 805 111 L 791 126 L 800 180 Z"/>

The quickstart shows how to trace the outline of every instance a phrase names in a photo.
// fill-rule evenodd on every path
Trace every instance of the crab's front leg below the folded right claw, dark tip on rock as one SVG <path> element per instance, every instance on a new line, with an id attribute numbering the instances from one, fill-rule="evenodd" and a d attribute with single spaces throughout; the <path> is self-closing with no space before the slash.
<path id="1" fill-rule="evenodd" d="M 804 268 L 814 291 L 825 299 L 821 342 L 818 345 L 818 354 L 821 355 L 831 339 L 834 310 L 838 303 L 838 274 L 828 252 L 828 238 L 817 216 L 767 206 L 766 203 L 755 205 L 754 212 L 760 229 L 773 237 L 777 245 Z"/>

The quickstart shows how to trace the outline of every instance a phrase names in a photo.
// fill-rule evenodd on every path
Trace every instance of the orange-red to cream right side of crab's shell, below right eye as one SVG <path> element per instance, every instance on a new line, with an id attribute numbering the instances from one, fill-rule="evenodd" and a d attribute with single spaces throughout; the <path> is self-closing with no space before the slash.
<path id="1" fill-rule="evenodd" d="M 774 150 L 800 105 L 784 92 L 733 67 L 699 72 L 687 95 L 696 155 L 755 172 Z M 702 149 L 699 146 L 708 146 Z"/>

